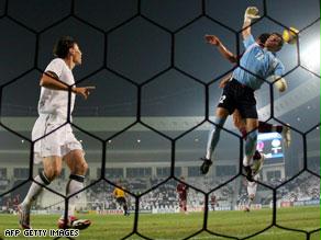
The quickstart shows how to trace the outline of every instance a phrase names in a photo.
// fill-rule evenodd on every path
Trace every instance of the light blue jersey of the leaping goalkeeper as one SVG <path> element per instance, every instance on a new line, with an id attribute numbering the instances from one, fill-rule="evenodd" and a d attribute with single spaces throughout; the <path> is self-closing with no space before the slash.
<path id="1" fill-rule="evenodd" d="M 266 79 L 273 75 L 283 76 L 285 67 L 276 56 L 265 48 L 262 48 L 252 35 L 243 42 L 246 50 L 240 60 L 240 66 L 233 71 L 233 78 L 244 85 L 257 90 Z M 247 69 L 245 71 L 244 69 Z M 253 72 L 254 75 L 251 75 Z"/>

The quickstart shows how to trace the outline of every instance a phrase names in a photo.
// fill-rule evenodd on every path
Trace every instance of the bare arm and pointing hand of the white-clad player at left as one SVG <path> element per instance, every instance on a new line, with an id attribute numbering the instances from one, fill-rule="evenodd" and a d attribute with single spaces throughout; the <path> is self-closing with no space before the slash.
<path id="1" fill-rule="evenodd" d="M 53 71 L 47 71 L 43 73 L 40 85 L 52 89 L 52 90 L 60 90 L 60 91 L 68 91 L 68 85 L 63 83 L 62 81 L 58 81 L 58 76 Z M 95 87 L 78 87 L 78 88 L 71 88 L 71 92 L 82 95 L 85 99 L 88 98 L 90 94 L 90 90 L 93 90 Z"/>

